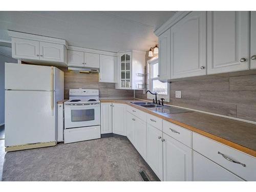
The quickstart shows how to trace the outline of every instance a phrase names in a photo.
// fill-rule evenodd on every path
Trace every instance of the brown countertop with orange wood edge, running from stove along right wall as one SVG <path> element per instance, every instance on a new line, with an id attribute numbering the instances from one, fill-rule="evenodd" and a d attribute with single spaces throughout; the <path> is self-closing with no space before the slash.
<path id="1" fill-rule="evenodd" d="M 163 115 L 131 103 L 136 101 L 143 102 L 140 99 L 100 99 L 100 101 L 131 105 L 141 111 L 150 113 L 256 157 L 256 124 L 200 112 Z"/>

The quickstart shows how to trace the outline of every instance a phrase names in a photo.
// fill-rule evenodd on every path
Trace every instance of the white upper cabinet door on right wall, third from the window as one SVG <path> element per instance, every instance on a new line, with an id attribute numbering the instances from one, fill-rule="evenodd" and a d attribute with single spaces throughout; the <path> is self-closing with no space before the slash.
<path id="1" fill-rule="evenodd" d="M 207 74 L 249 69 L 248 11 L 207 13 Z"/>

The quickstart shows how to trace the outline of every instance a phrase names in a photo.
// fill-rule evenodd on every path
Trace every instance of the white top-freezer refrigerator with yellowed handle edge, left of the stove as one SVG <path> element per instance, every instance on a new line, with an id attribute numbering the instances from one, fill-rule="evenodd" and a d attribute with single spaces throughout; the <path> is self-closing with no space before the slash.
<path id="1" fill-rule="evenodd" d="M 61 70 L 5 63 L 5 146 L 57 142 L 57 101 L 63 95 Z"/>

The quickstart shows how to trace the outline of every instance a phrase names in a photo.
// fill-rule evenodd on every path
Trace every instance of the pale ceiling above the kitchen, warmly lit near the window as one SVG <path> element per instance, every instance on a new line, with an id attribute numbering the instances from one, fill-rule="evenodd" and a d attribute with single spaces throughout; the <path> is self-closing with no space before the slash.
<path id="1" fill-rule="evenodd" d="M 0 40 L 7 30 L 66 39 L 69 45 L 105 51 L 146 51 L 154 31 L 175 11 L 0 11 Z"/>

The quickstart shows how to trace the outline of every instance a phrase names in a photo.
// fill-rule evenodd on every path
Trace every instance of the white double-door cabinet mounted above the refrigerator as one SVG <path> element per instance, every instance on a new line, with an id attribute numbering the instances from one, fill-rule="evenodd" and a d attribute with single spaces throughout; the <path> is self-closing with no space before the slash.
<path id="1" fill-rule="evenodd" d="M 40 65 L 67 66 L 66 40 L 16 31 L 8 33 L 12 37 L 12 57 Z"/>

